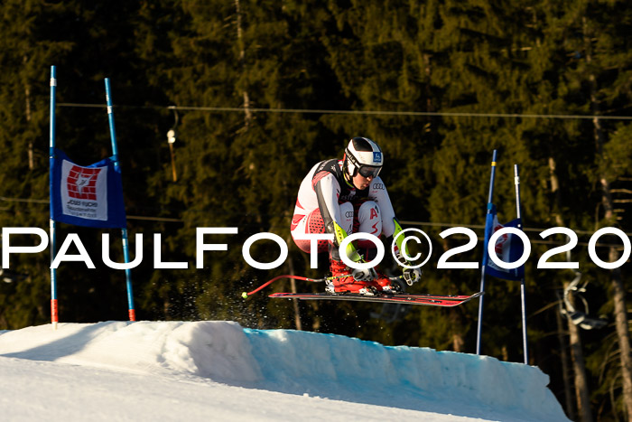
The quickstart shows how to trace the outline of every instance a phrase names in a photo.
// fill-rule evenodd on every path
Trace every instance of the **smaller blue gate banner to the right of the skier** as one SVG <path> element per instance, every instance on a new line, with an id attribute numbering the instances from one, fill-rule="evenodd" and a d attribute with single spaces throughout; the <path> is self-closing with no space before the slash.
<path id="1" fill-rule="evenodd" d="M 496 207 L 492 205 L 492 211 L 488 213 L 485 223 L 485 245 L 488 245 L 489 238 L 491 238 L 492 234 L 504 227 L 514 227 L 522 230 L 522 221 L 521 219 L 516 219 L 506 224 L 500 224 L 496 214 Z M 522 243 L 522 239 L 511 233 L 506 233 L 497 239 L 494 250 L 496 251 L 498 259 L 511 263 L 516 262 L 522 257 L 525 247 Z M 486 266 L 485 274 L 487 276 L 502 278 L 504 280 L 521 280 L 525 277 L 524 265 L 508 269 L 498 267 L 494 264 L 494 262 L 489 259 L 487 246 L 483 258 L 483 265 Z"/>

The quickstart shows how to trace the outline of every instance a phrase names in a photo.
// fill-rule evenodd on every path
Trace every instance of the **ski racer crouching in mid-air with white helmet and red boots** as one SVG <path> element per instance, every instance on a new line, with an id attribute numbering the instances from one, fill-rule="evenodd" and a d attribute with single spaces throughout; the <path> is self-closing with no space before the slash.
<path id="1" fill-rule="evenodd" d="M 311 240 L 306 234 L 332 234 L 333 241 L 318 240 L 318 252 L 329 251 L 331 279 L 327 281 L 329 293 L 351 292 L 374 295 L 376 292 L 396 292 L 391 280 L 376 267 L 353 269 L 340 258 L 339 245 L 352 233 L 367 233 L 386 238 L 395 236 L 395 255 L 408 264 L 402 254 L 404 236 L 395 219 L 393 205 L 386 192 L 386 185 L 379 177 L 384 164 L 380 147 L 367 137 L 354 137 L 349 141 L 341 160 L 331 159 L 315 164 L 299 188 L 292 219 L 292 237 L 302 251 L 311 252 Z M 392 239 L 386 242 L 386 254 L 390 252 Z M 343 251 L 356 263 L 370 261 L 376 246 L 368 239 L 349 243 Z M 363 252 L 363 254 L 361 253 Z M 404 267 L 404 280 L 408 285 L 419 281 L 419 268 Z"/>

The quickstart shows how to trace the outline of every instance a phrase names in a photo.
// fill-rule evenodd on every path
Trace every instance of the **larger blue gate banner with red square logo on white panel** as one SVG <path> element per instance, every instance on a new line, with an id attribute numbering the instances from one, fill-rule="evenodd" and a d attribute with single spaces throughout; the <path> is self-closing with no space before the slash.
<path id="1" fill-rule="evenodd" d="M 51 219 L 76 226 L 125 228 L 123 184 L 113 158 L 83 167 L 55 148 L 51 157 Z"/>

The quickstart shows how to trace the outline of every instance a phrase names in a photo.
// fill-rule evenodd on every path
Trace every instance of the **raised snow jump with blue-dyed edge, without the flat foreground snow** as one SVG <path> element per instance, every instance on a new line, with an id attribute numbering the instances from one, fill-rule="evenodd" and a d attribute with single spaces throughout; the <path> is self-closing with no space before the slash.
<path id="1" fill-rule="evenodd" d="M 467 417 L 568 420 L 536 367 L 233 322 L 42 325 L 2 332 L 0 356 Z"/>

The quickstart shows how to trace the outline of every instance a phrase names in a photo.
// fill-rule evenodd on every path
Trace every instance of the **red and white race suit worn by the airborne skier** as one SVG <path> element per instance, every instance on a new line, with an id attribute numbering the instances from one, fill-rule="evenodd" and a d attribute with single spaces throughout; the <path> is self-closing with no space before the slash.
<path id="1" fill-rule="evenodd" d="M 380 177 L 367 189 L 356 189 L 342 172 L 342 160 L 326 160 L 314 165 L 299 188 L 292 219 L 292 237 L 296 246 L 310 252 L 310 240 L 302 234 L 334 233 L 334 221 L 347 234 L 369 233 L 379 237 L 395 232 L 395 211 Z M 318 241 L 318 252 L 328 250 L 327 240 Z M 370 240 L 356 242 L 358 248 L 375 248 Z"/>

